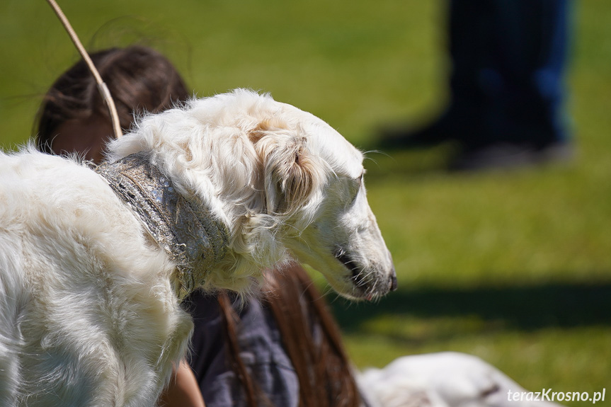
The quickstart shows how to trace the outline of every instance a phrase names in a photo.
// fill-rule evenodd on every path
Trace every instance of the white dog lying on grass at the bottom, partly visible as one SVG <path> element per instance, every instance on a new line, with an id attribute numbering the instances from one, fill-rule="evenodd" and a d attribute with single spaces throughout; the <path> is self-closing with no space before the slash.
<path id="1" fill-rule="evenodd" d="M 357 377 L 371 407 L 561 407 L 460 352 L 403 356 Z"/>

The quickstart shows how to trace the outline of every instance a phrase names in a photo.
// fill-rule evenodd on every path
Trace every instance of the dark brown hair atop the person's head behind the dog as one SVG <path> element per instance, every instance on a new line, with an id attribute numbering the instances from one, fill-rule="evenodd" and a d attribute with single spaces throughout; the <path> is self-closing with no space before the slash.
<path id="1" fill-rule="evenodd" d="M 150 48 L 111 48 L 94 52 L 91 60 L 113 96 L 122 129 L 130 128 L 134 115 L 157 113 L 189 97 L 173 64 Z M 59 76 L 43 98 L 35 127 L 38 149 L 52 153 L 52 137 L 59 125 L 93 116 L 110 122 L 96 80 L 81 59 Z"/>

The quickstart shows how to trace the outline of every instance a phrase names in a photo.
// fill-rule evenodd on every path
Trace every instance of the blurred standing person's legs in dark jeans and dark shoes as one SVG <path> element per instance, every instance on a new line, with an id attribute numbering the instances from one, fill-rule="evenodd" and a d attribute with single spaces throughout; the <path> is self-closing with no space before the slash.
<path id="1" fill-rule="evenodd" d="M 455 142 L 457 170 L 569 159 L 569 0 L 450 0 L 450 101 L 426 127 L 382 132 L 381 147 Z"/>

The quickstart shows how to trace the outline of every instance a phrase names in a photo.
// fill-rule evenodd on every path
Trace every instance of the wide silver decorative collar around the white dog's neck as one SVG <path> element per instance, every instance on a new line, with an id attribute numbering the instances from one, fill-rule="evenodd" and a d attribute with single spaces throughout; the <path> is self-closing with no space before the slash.
<path id="1" fill-rule="evenodd" d="M 144 229 L 176 262 L 176 294 L 182 301 L 225 256 L 227 227 L 212 219 L 199 202 L 177 193 L 171 180 L 145 153 L 101 164 L 96 172 L 139 215 Z"/>

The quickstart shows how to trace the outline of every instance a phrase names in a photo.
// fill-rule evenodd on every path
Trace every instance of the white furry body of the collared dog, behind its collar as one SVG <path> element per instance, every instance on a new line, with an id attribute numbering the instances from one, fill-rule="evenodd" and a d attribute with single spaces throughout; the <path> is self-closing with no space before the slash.
<path id="1" fill-rule="evenodd" d="M 0 406 L 149 406 L 191 328 L 173 265 L 86 166 L 0 153 L 0 178 Z"/>

